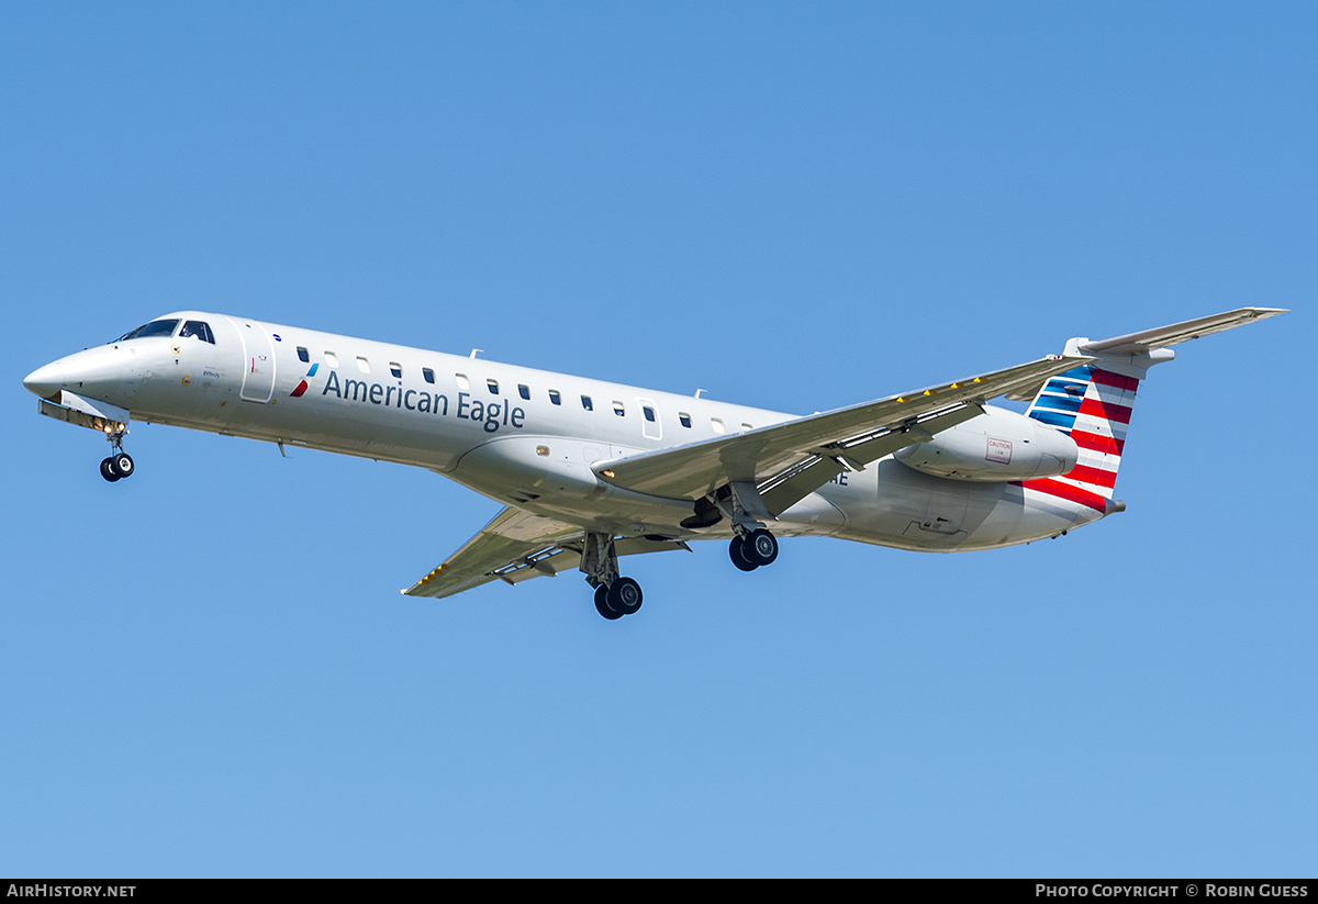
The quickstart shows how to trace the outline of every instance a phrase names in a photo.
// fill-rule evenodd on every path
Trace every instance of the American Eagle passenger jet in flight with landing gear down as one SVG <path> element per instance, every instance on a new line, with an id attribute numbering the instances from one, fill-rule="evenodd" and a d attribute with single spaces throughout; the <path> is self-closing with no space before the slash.
<path id="1" fill-rule="evenodd" d="M 505 507 L 402 593 L 449 597 L 572 568 L 608 619 L 635 613 L 622 556 L 728 542 L 741 571 L 779 538 L 929 552 L 1056 538 L 1114 498 L 1135 393 L 1173 345 L 1284 314 L 1244 307 L 822 414 L 796 416 L 202 311 L 38 368 L 43 415 L 130 420 L 427 468 Z M 1024 414 L 988 405 L 1028 402 Z"/>

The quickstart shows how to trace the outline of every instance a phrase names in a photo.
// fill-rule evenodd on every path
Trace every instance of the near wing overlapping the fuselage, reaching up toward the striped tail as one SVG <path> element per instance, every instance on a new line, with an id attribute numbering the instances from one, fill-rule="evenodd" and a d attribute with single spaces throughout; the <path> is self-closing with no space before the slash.
<path id="1" fill-rule="evenodd" d="M 758 493 L 739 493 L 743 502 L 746 495 L 759 495 L 763 510 L 753 514 L 776 517 L 847 468 L 859 470 L 970 420 L 990 398 L 1093 360 L 1054 354 L 733 436 L 601 461 L 594 472 L 617 486 L 667 498 L 699 499 L 725 484 L 754 486 Z"/>

